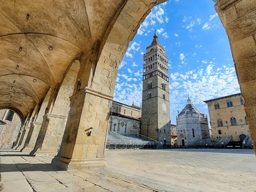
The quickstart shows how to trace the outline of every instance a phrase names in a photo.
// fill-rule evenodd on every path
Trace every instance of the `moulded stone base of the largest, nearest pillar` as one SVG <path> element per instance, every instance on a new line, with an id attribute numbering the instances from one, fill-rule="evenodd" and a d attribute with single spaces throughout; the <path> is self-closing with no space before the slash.
<path id="1" fill-rule="evenodd" d="M 105 159 L 67 159 L 65 157 L 55 156 L 51 164 L 66 171 L 106 168 Z"/>

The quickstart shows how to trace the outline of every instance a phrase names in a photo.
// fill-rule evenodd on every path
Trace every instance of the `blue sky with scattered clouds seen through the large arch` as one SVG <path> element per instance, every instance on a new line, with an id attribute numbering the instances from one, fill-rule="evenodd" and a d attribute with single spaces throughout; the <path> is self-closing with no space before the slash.
<path id="1" fill-rule="evenodd" d="M 204 100 L 239 93 L 228 38 L 211 0 L 170 0 L 152 9 L 141 24 L 118 70 L 114 100 L 141 105 L 143 54 L 157 31 L 166 49 L 170 112 L 192 104 L 208 115 Z"/>

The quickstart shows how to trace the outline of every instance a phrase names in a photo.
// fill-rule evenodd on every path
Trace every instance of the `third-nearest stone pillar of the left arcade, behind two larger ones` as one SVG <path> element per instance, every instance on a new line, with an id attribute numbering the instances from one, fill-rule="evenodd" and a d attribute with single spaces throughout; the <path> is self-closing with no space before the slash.
<path id="1" fill-rule="evenodd" d="M 22 152 L 31 152 L 31 150 L 33 150 L 33 148 L 35 147 L 36 138 L 38 137 L 38 133 L 40 131 L 41 125 L 42 123 L 40 122 L 31 122 L 28 136 L 26 138 Z"/>

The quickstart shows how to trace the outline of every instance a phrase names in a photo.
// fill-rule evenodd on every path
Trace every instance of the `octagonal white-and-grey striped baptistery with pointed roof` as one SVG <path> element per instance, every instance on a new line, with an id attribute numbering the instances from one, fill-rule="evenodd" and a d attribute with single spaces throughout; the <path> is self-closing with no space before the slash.
<path id="1" fill-rule="evenodd" d="M 191 104 L 188 97 L 188 104 L 176 117 L 177 121 L 177 145 L 178 147 L 189 147 L 195 141 L 210 138 L 207 115 L 201 113 Z"/>

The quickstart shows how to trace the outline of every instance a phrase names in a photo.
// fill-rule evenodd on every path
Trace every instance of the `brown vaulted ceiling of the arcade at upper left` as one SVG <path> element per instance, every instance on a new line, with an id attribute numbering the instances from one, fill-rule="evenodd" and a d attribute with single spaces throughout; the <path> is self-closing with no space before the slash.
<path id="1" fill-rule="evenodd" d="M 0 109 L 22 118 L 77 54 L 102 40 L 124 0 L 0 0 Z"/>

